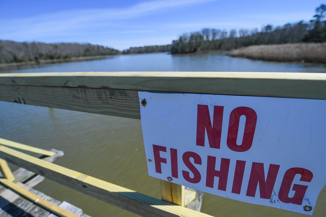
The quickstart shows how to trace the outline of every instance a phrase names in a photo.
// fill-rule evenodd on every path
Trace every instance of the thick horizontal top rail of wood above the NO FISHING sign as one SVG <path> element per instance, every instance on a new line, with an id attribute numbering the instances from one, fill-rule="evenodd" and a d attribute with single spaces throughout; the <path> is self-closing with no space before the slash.
<path id="1" fill-rule="evenodd" d="M 0 101 L 140 119 L 138 91 L 326 99 L 326 73 L 0 74 Z"/>

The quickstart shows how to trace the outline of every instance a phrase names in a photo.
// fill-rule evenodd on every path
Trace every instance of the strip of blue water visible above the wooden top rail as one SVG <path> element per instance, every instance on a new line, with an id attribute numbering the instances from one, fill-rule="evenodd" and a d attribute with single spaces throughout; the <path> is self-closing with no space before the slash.
<path id="1" fill-rule="evenodd" d="M 168 53 L 119 55 L 104 59 L 18 66 L 0 72 L 103 72 L 103 71 L 220 71 L 220 72 L 315 72 L 325 73 L 326 65 L 277 63 L 234 58 L 224 53 L 171 55 Z"/>

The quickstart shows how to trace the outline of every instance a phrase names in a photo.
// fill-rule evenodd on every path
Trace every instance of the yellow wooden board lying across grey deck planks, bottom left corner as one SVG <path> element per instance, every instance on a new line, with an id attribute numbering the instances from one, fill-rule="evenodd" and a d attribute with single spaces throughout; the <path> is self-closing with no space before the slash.
<path id="1" fill-rule="evenodd" d="M 38 206 L 42 207 L 45 210 L 52 212 L 53 214 L 61 217 L 77 217 L 78 215 L 65 210 L 47 200 L 42 199 L 41 197 L 29 192 L 28 190 L 22 188 L 21 186 L 7 180 L 7 179 L 0 179 L 0 184 L 6 186 L 13 192 L 21 195 L 22 197 L 26 198 L 27 200 L 37 204 Z"/>

